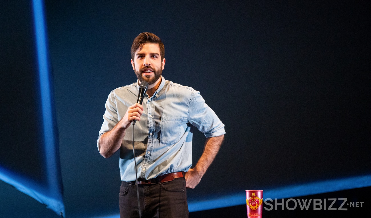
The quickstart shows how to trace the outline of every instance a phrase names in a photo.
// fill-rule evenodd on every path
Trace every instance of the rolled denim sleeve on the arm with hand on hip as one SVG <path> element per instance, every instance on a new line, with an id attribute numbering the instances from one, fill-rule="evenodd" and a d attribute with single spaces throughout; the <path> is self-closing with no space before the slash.
<path id="1" fill-rule="evenodd" d="M 225 134 L 224 124 L 220 121 L 215 112 L 207 106 L 200 92 L 194 90 L 191 95 L 188 108 L 188 122 L 209 137 Z"/>

